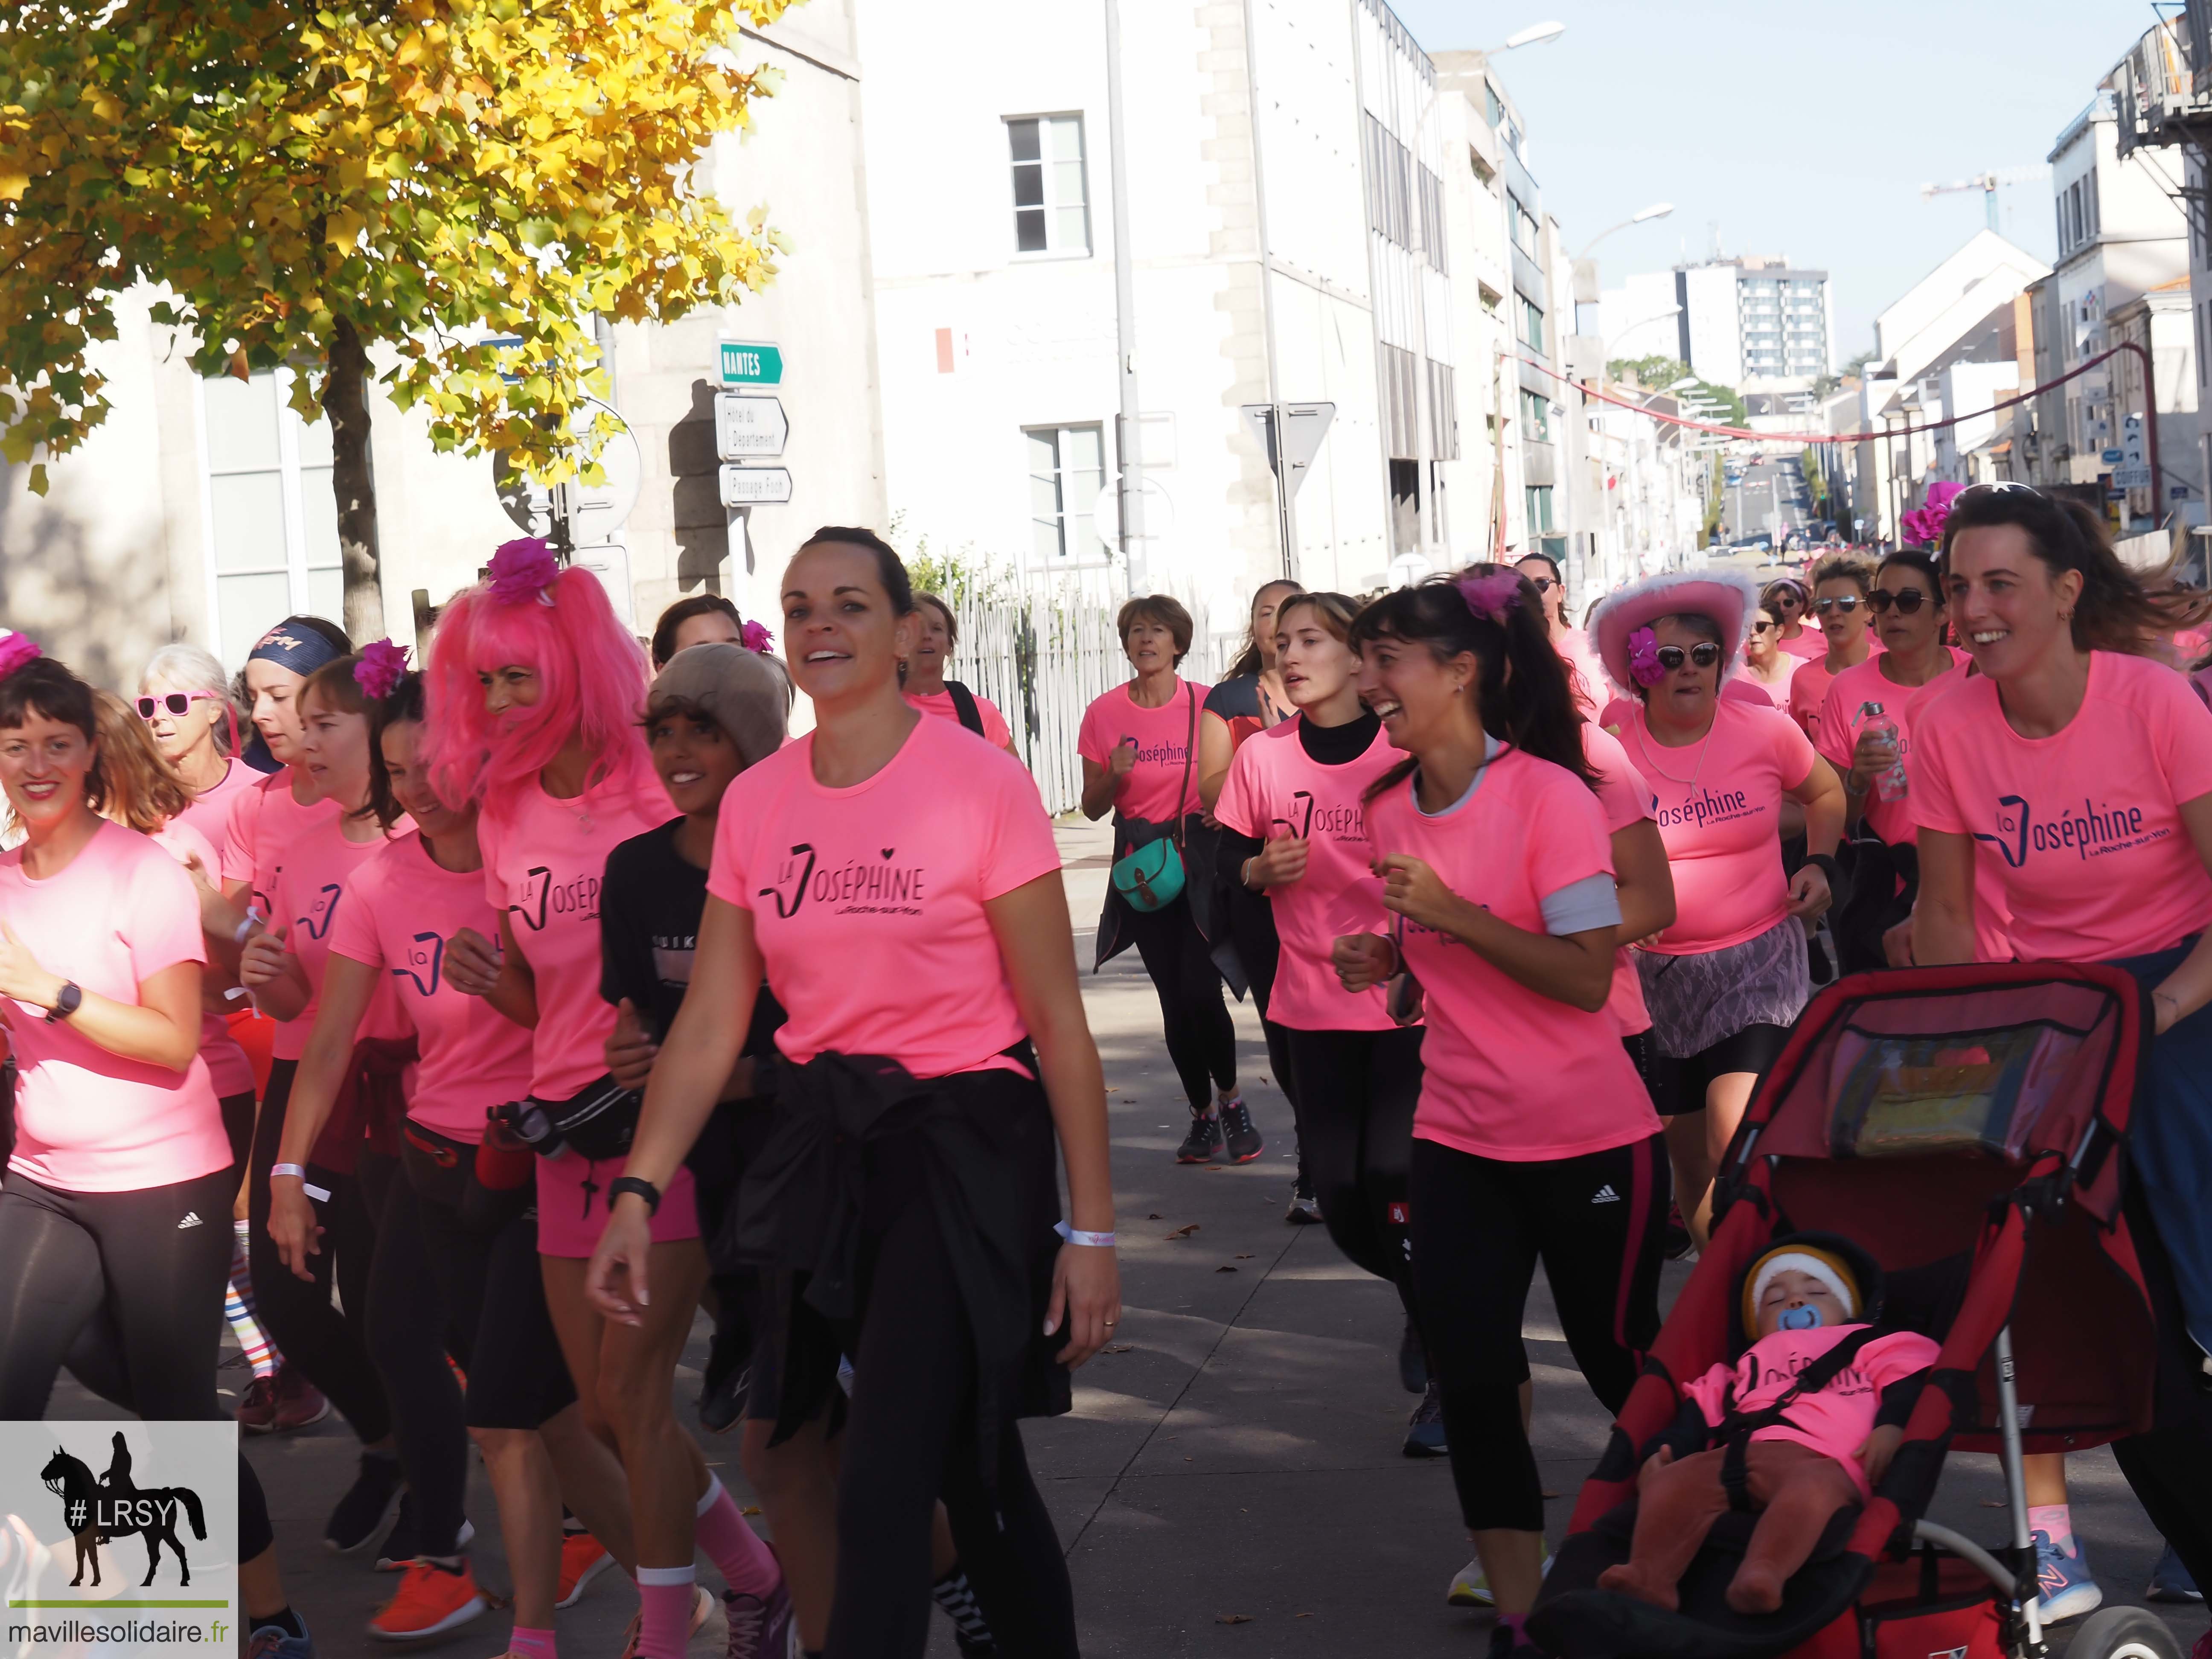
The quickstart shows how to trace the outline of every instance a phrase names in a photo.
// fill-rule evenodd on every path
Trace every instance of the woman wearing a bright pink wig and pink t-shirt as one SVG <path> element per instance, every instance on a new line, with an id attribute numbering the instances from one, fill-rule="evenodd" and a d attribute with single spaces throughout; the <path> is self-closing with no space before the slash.
<path id="1" fill-rule="evenodd" d="M 491 1133 L 540 1150 L 546 1307 L 584 1422 L 619 1449 L 628 1475 L 639 1652 L 679 1655 L 706 1606 L 695 1546 L 721 1568 L 732 1619 L 774 1626 L 781 1639 L 783 1575 L 737 1520 L 666 1387 L 708 1279 L 686 1170 L 666 1172 L 650 1219 L 664 1294 L 639 1321 L 608 1321 L 584 1294 L 637 1113 L 606 1066 L 615 1009 L 599 995 L 599 894 L 608 854 L 670 818 L 641 726 L 646 657 L 591 571 L 562 568 L 551 546 L 524 538 L 504 542 L 491 580 L 447 606 L 427 686 L 431 779 L 445 799 L 482 803 L 484 894 L 500 911 L 498 951 L 456 938 L 447 973 L 460 991 L 531 1011 L 529 1095 Z"/>

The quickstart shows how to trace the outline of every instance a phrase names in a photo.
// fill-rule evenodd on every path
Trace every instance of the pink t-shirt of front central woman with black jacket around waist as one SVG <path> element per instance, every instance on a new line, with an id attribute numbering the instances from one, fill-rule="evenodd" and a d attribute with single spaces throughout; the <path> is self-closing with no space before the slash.
<path id="1" fill-rule="evenodd" d="M 745 772 L 721 799 L 706 889 L 752 911 L 785 1055 L 947 1077 L 1011 1064 L 998 1055 L 1024 1026 L 982 907 L 1057 872 L 1022 763 L 925 719 L 847 790 L 814 781 L 812 734 Z"/>

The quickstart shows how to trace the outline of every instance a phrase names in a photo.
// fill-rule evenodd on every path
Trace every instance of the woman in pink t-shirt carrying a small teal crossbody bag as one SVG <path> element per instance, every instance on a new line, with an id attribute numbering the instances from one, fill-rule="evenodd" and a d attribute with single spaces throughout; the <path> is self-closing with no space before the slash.
<path id="1" fill-rule="evenodd" d="M 1203 872 L 1190 869 L 1192 830 L 1199 825 L 1199 723 L 1206 686 L 1177 677 L 1190 650 L 1190 613 L 1164 593 L 1121 606 L 1115 619 L 1135 679 L 1093 699 L 1075 734 L 1084 761 L 1084 816 L 1113 814 L 1113 856 L 1172 836 L 1183 856 L 1183 891 L 1152 911 L 1139 911 L 1106 885 L 1093 967 L 1137 947 L 1159 993 L 1168 1060 L 1190 1102 L 1190 1133 L 1177 1164 L 1250 1164 L 1263 1141 L 1237 1088 L 1237 1026 L 1221 1000 L 1221 971 L 1212 940 L 1225 938 L 1212 916 Z"/>

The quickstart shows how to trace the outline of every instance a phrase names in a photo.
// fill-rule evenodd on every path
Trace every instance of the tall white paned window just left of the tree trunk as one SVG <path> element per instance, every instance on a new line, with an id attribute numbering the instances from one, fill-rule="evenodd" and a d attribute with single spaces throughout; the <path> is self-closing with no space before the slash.
<path id="1" fill-rule="evenodd" d="M 301 420 L 290 392 L 290 374 L 199 383 L 201 522 L 226 668 L 292 613 L 345 615 L 330 420 Z"/>

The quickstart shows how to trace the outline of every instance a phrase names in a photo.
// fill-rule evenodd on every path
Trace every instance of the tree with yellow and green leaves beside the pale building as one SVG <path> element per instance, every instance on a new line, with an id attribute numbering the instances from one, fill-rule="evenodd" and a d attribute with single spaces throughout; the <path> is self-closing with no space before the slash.
<path id="1" fill-rule="evenodd" d="M 774 69 L 741 27 L 790 0 L 15 0 L 0 20 L 0 456 L 108 414 L 115 299 L 201 374 L 288 365 L 330 416 L 345 626 L 383 633 L 369 347 L 440 449 L 588 473 L 595 316 L 670 321 L 774 276 L 783 246 L 695 188 Z M 599 434 L 591 434 L 586 449 Z"/>

